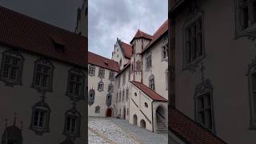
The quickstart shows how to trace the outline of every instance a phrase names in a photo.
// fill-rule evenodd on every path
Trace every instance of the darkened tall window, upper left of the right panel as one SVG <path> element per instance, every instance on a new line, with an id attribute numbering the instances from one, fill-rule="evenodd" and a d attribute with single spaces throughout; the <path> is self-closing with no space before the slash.
<path id="1" fill-rule="evenodd" d="M 185 27 L 184 64 L 199 61 L 204 54 L 202 13 L 191 14 Z"/>

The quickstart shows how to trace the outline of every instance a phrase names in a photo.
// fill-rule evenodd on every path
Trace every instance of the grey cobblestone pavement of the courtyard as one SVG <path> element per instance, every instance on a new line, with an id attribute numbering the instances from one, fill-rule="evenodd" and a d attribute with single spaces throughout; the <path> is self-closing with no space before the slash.
<path id="1" fill-rule="evenodd" d="M 167 134 L 155 134 L 116 118 L 88 118 L 89 144 L 167 144 Z"/>

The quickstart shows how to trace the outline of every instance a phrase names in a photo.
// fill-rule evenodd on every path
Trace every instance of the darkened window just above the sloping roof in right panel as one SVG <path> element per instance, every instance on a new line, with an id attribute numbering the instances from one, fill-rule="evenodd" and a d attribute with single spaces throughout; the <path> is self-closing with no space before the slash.
<path id="1" fill-rule="evenodd" d="M 214 109 L 212 102 L 212 85 L 210 80 L 199 84 L 195 93 L 196 121 L 206 129 L 214 130 Z"/>

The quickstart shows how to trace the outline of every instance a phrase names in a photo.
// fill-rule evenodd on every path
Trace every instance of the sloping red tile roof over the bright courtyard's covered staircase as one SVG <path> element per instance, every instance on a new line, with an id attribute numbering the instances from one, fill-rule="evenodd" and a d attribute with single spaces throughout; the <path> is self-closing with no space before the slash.
<path id="1" fill-rule="evenodd" d="M 154 101 L 167 102 L 166 98 L 163 98 L 161 95 L 151 90 L 149 87 L 144 85 L 142 82 L 131 82 L 134 86 L 138 87 L 139 90 L 142 90 L 146 95 L 152 98 Z"/>

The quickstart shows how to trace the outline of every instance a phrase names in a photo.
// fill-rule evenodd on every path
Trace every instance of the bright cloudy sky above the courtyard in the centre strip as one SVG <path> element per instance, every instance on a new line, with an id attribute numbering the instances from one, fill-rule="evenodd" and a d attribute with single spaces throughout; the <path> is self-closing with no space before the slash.
<path id="1" fill-rule="evenodd" d="M 140 30 L 154 31 L 168 18 L 167 0 L 89 0 L 89 50 L 111 58 L 117 38 L 130 43 Z"/>

